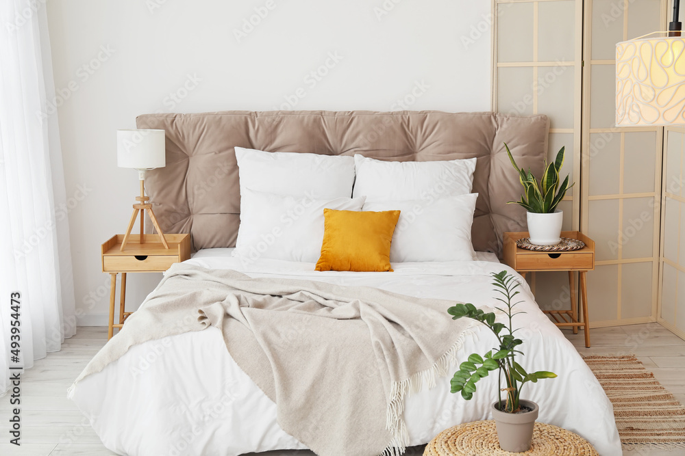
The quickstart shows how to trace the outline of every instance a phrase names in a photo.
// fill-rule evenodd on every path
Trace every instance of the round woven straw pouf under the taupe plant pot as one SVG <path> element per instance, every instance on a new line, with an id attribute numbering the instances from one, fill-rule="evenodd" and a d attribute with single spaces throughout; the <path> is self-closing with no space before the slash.
<path id="1" fill-rule="evenodd" d="M 475 421 L 442 431 L 426 445 L 423 456 L 599 456 L 587 440 L 553 425 L 535 423 L 530 450 L 510 453 L 499 448 L 495 420 Z"/>

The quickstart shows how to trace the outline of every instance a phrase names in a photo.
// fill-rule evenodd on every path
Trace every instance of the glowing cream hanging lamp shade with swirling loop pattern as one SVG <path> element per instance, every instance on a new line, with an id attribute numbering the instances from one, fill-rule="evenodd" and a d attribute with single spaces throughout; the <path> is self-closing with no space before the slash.
<path id="1" fill-rule="evenodd" d="M 616 126 L 685 124 L 685 40 L 616 44 Z"/>

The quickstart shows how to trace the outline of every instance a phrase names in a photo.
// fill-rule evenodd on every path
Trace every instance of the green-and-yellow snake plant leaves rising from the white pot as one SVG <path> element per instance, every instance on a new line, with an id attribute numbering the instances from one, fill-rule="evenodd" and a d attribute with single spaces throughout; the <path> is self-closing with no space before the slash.
<path id="1" fill-rule="evenodd" d="M 553 213 L 556 206 L 564 198 L 564 195 L 566 195 L 566 190 L 573 187 L 573 184 L 569 185 L 569 176 L 566 176 L 564 182 L 559 185 L 559 170 L 564 164 L 564 147 L 559 150 L 553 163 L 549 163 L 549 165 L 545 166 L 545 173 L 539 183 L 535 176 L 533 176 L 533 173 L 530 172 L 530 168 L 528 168 L 528 171 L 526 172 L 523 168 L 520 168 L 519 165 L 516 165 L 516 161 L 514 161 L 514 157 L 512 157 L 512 152 L 509 150 L 509 146 L 507 146 L 506 143 L 504 143 L 504 147 L 507 149 L 512 165 L 514 165 L 516 171 L 519 172 L 519 180 L 521 180 L 521 185 L 523 185 L 524 190 L 520 201 L 510 201 L 508 204 L 521 204 L 528 212 L 541 214 Z"/>

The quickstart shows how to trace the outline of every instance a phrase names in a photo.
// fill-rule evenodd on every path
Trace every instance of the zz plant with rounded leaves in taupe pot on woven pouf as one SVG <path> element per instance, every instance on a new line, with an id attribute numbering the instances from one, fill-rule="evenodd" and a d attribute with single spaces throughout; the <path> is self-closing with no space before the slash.
<path id="1" fill-rule="evenodd" d="M 450 381 L 450 390 L 453 393 L 461 392 L 462 397 L 469 401 L 476 390 L 477 381 L 486 377 L 490 371 L 499 371 L 499 399 L 490 407 L 497 425 L 499 446 L 504 451 L 522 453 L 530 449 L 533 427 L 538 418 L 538 405 L 533 401 L 520 399 L 521 388 L 529 381 L 536 383 L 539 379 L 554 378 L 556 374 L 547 371 L 527 373 L 521 364 L 516 362 L 517 354 L 523 356 L 523 353 L 516 349 L 523 340 L 514 336 L 516 330 L 512 328 L 512 317 L 524 312 L 515 312 L 514 306 L 518 302 L 512 301 L 519 294 L 516 288 L 520 284 L 514 276 L 507 274 L 507 271 L 493 273 L 493 278 L 493 285 L 497 287 L 495 291 L 503 295 L 496 299 L 506 306 L 497 307 L 497 310 L 505 314 L 508 323 L 495 322 L 495 312 L 485 313 L 473 304 L 456 304 L 447 310 L 453 320 L 466 317 L 483 323 L 495 334 L 499 342 L 499 347 L 488 351 L 484 356 L 473 353 L 469 360 L 462 362 Z M 505 388 L 502 388 L 502 377 L 506 384 Z M 504 397 L 502 392 L 505 393 Z"/>

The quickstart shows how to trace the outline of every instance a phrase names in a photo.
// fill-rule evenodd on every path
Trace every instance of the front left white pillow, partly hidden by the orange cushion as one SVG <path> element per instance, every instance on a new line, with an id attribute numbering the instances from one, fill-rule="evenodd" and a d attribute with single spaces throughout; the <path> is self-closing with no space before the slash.
<path id="1" fill-rule="evenodd" d="M 359 198 L 317 199 L 245 189 L 240 195 L 240 228 L 233 256 L 249 264 L 258 258 L 316 263 L 323 243 L 323 209 L 361 211 Z"/>

